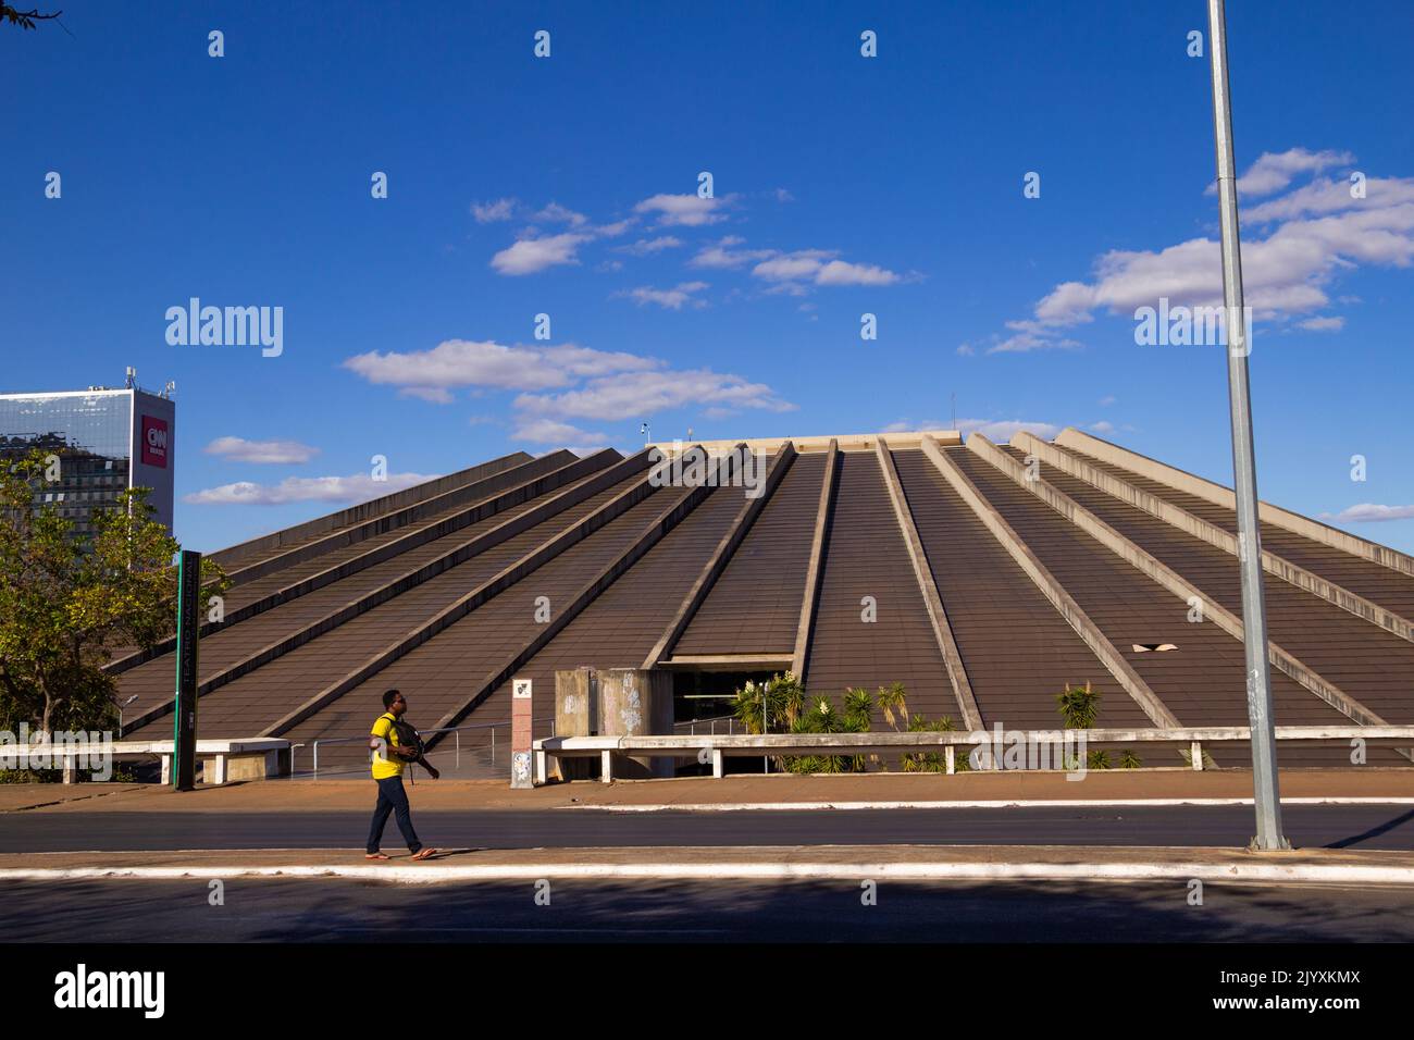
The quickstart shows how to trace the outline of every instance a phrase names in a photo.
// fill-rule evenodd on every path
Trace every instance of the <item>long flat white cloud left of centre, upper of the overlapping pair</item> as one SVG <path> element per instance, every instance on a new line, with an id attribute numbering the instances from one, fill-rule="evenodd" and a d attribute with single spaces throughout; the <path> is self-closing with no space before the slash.
<path id="1" fill-rule="evenodd" d="M 445 403 L 455 386 L 540 391 L 568 386 L 575 379 L 662 365 L 636 354 L 588 347 L 506 347 L 492 341 L 447 340 L 430 351 L 380 354 L 369 351 L 344 361 L 344 368 L 370 383 L 402 388 L 403 393 Z"/>

